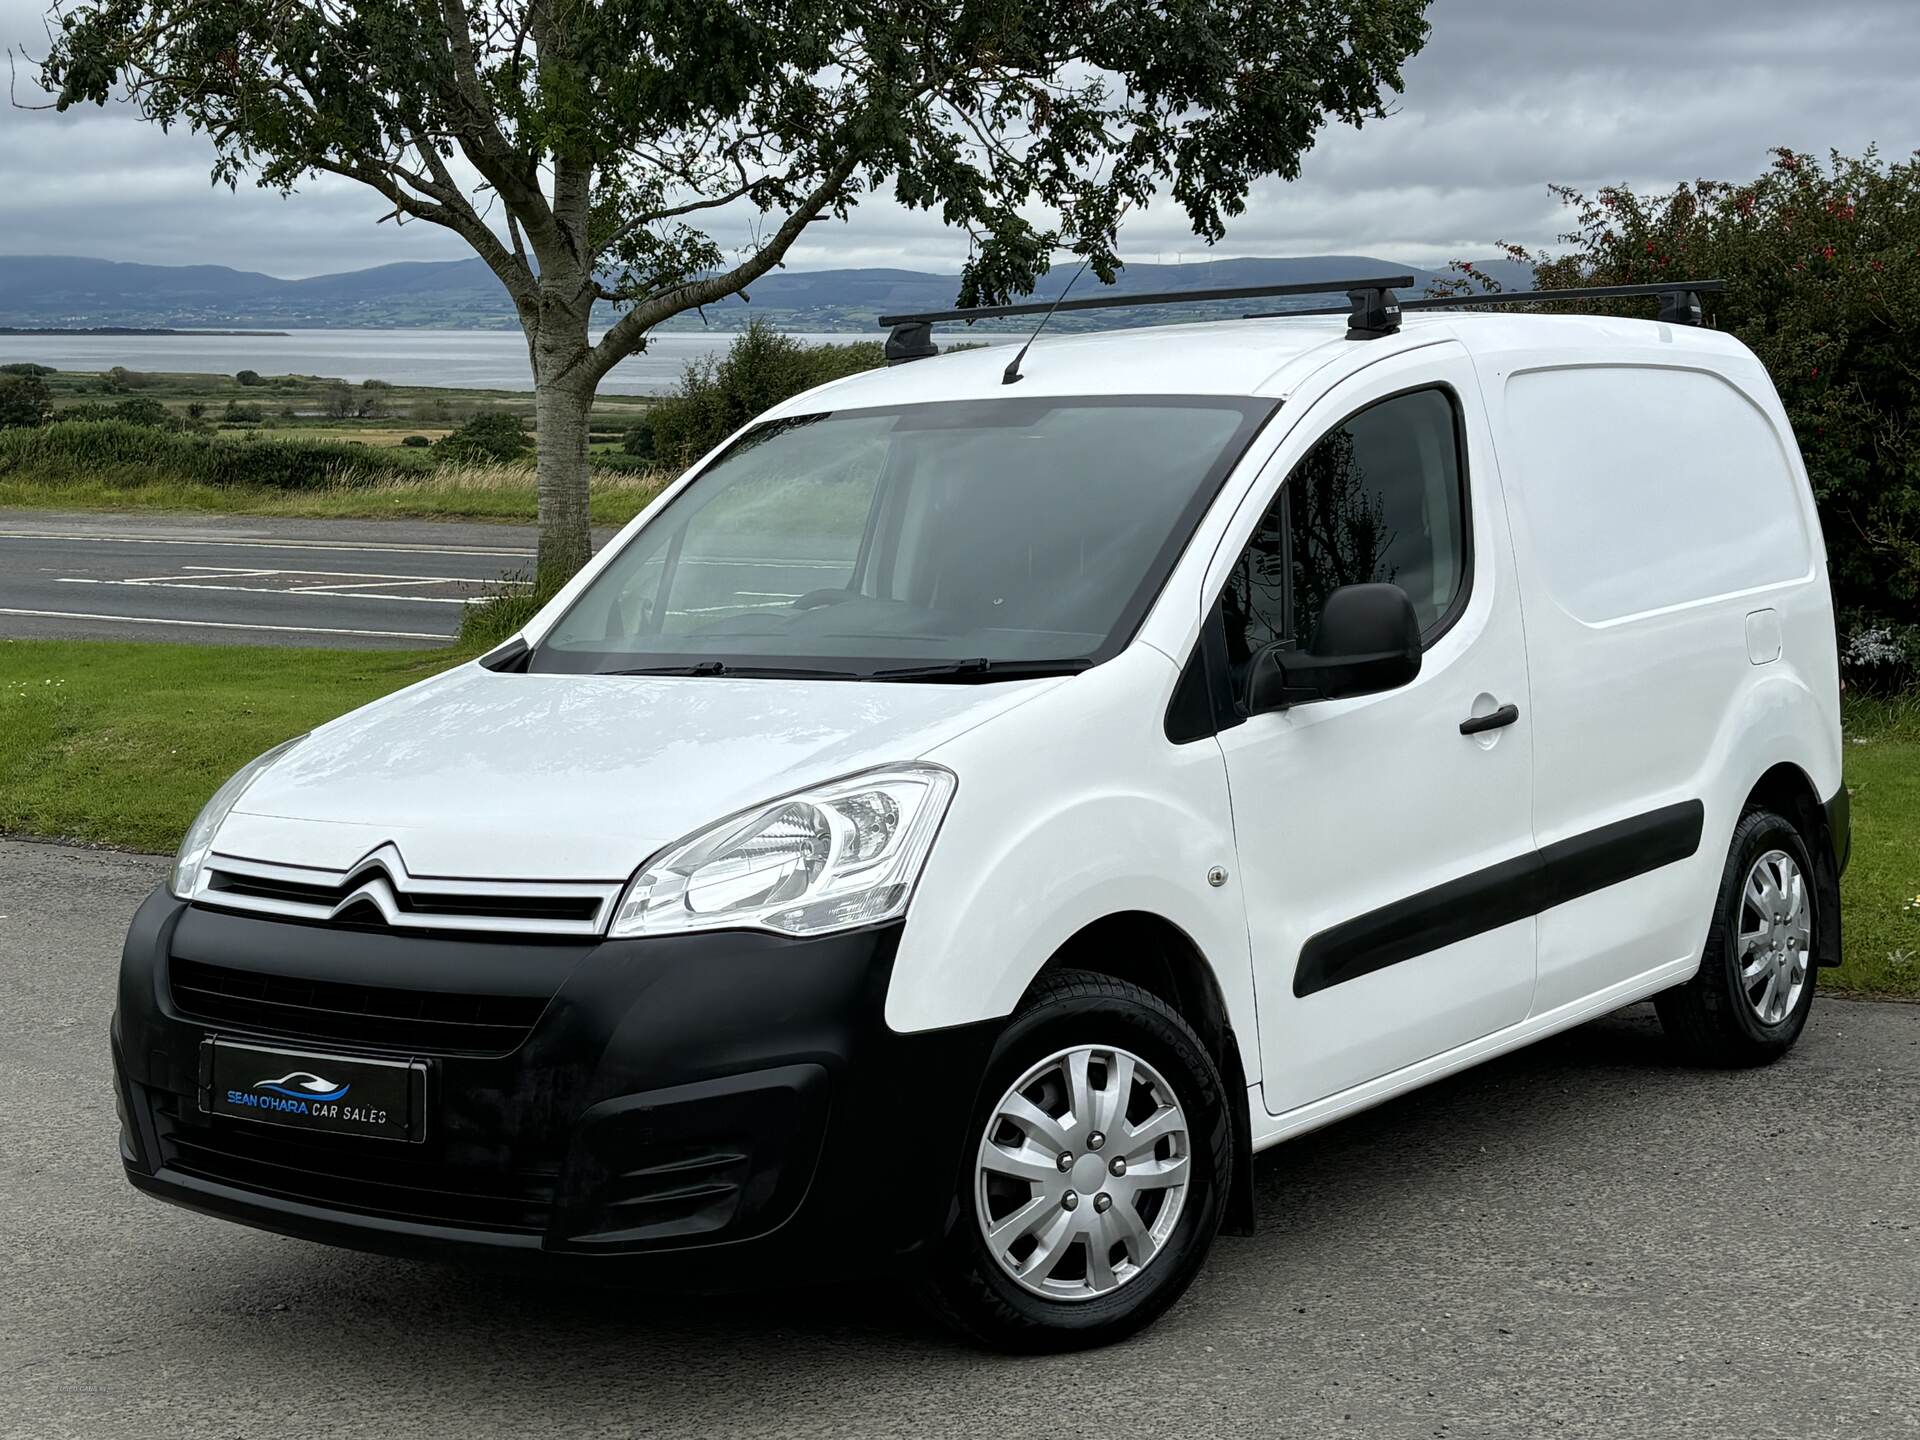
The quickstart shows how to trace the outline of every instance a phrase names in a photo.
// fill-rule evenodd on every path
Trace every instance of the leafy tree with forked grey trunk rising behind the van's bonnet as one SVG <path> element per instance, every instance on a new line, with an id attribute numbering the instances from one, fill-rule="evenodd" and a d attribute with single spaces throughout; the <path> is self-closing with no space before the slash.
<path id="1" fill-rule="evenodd" d="M 213 177 L 342 175 L 455 230 L 513 298 L 540 420 L 541 572 L 588 555 L 586 413 L 672 315 L 747 288 L 881 188 L 964 230 L 960 301 L 1127 205 L 1208 242 L 1329 117 L 1384 113 L 1427 0 L 84 0 L 40 67 L 127 98 Z M 758 217 L 730 248 L 720 234 Z M 703 228 L 726 221 L 724 230 Z M 597 300 L 616 323 L 589 338 Z"/>

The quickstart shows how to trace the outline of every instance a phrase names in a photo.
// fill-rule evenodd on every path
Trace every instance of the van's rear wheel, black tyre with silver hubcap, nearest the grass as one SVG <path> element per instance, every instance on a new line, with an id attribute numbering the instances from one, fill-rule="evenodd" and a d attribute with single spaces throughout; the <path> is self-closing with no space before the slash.
<path id="1" fill-rule="evenodd" d="M 1812 1010 L 1820 904 L 1801 833 L 1772 810 L 1747 810 L 1734 828 L 1699 973 L 1653 1002 L 1684 1056 L 1764 1066 L 1793 1048 Z"/>

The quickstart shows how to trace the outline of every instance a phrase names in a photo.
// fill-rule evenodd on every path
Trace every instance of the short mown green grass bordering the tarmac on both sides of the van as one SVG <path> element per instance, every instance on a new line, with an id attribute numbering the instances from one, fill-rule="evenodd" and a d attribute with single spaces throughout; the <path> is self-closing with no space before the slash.
<path id="1" fill-rule="evenodd" d="M 171 851 L 244 760 L 472 651 L 0 641 L 0 833 Z M 1920 996 L 1920 701 L 1847 707 L 1853 866 L 1832 991 Z"/>

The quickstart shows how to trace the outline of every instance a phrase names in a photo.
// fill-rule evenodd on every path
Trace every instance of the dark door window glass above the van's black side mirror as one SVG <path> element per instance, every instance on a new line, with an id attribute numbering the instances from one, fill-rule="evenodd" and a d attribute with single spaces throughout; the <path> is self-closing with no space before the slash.
<path id="1" fill-rule="evenodd" d="M 1467 593 L 1467 492 L 1453 399 L 1415 390 L 1329 430 L 1286 476 L 1221 595 L 1227 657 L 1313 643 L 1340 586 L 1407 591 L 1428 643 Z"/>

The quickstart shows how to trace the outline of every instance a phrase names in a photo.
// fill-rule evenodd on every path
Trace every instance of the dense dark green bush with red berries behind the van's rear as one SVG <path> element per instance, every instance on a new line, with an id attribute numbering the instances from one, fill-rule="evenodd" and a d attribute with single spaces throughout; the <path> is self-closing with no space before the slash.
<path id="1" fill-rule="evenodd" d="M 1741 182 L 1557 188 L 1572 213 L 1561 253 L 1507 252 L 1540 288 L 1728 282 L 1703 296 L 1707 323 L 1759 355 L 1793 422 L 1849 668 L 1920 678 L 1920 156 L 1772 154 Z M 1576 309 L 1651 317 L 1653 301 Z"/>

